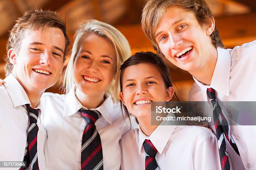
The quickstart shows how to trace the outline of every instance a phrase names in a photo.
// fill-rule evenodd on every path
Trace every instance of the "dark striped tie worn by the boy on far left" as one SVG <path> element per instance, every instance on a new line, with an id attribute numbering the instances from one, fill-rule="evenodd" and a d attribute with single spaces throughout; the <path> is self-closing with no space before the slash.
<path id="1" fill-rule="evenodd" d="M 26 104 L 25 107 L 28 111 L 29 128 L 23 161 L 27 162 L 27 168 L 20 168 L 20 170 L 39 170 L 37 158 L 38 126 L 36 124 L 39 110 L 30 107 L 29 104 Z"/>

